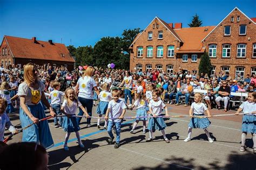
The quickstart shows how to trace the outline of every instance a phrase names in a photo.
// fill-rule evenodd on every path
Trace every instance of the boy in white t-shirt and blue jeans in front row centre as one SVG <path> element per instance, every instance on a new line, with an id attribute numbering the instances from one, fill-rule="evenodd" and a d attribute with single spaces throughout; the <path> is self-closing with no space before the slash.
<path id="1" fill-rule="evenodd" d="M 114 148 L 120 147 L 120 131 L 121 131 L 121 120 L 124 118 L 124 114 L 126 112 L 126 105 L 125 102 L 122 100 L 119 100 L 120 92 L 115 89 L 112 91 L 112 97 L 113 99 L 109 102 L 109 105 L 107 106 L 107 111 L 105 115 L 105 120 L 109 120 L 109 123 L 107 125 L 107 133 L 109 133 L 110 138 L 107 139 L 107 142 L 109 144 L 113 144 L 113 133 L 112 128 L 115 125 L 116 126 L 116 144 L 114 144 Z"/>

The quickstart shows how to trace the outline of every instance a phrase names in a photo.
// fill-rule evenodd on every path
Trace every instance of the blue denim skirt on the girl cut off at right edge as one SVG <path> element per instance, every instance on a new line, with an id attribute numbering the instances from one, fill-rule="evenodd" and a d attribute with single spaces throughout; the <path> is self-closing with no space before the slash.
<path id="1" fill-rule="evenodd" d="M 256 133 L 256 115 L 242 116 L 242 132 Z"/>

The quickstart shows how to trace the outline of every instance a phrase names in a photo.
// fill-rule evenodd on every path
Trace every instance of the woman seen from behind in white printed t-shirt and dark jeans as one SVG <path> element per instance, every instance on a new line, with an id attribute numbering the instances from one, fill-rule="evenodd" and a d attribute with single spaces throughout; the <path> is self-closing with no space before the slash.
<path id="1" fill-rule="evenodd" d="M 99 95 L 99 90 L 95 80 L 92 78 L 95 69 L 92 66 L 87 67 L 82 77 L 77 81 L 76 93 L 78 93 L 78 100 L 86 108 L 87 113 L 92 115 L 92 105 L 93 105 L 93 91 L 95 90 L 97 95 Z M 78 92 L 79 91 L 79 92 Z M 79 108 L 78 115 L 83 115 L 84 112 Z M 77 123 L 79 125 L 82 118 L 77 118 Z M 87 127 L 91 126 L 91 118 L 87 118 Z"/>

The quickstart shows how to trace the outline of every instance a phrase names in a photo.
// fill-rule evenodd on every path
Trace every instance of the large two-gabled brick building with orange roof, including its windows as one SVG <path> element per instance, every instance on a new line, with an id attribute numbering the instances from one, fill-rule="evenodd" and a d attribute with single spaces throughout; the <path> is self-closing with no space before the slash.
<path id="1" fill-rule="evenodd" d="M 130 46 L 130 69 L 165 72 L 198 71 L 200 57 L 208 52 L 212 71 L 256 73 L 256 18 L 234 8 L 217 26 L 182 28 L 158 17 L 139 33 Z"/>

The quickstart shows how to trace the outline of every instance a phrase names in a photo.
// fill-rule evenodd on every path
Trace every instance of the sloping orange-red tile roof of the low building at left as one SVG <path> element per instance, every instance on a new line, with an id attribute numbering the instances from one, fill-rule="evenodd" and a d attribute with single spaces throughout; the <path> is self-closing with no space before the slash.
<path id="1" fill-rule="evenodd" d="M 42 40 L 36 40 L 36 43 L 33 43 L 32 39 L 11 36 L 4 36 L 4 38 L 6 38 L 12 55 L 15 58 L 75 62 L 64 44 L 50 44 Z"/>

